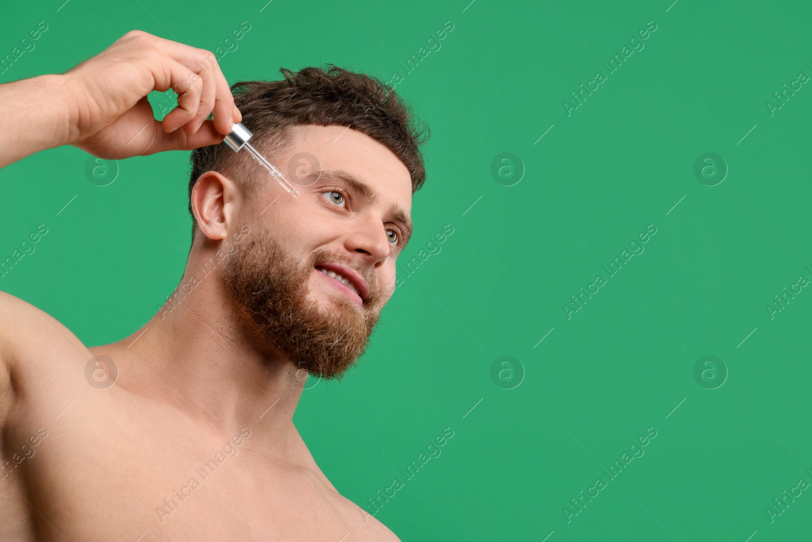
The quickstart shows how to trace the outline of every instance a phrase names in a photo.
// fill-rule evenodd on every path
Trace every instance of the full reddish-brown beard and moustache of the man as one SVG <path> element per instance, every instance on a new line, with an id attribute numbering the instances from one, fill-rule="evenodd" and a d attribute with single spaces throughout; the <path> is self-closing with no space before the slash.
<path id="1" fill-rule="evenodd" d="M 255 228 L 247 245 L 223 263 L 222 279 L 240 305 L 237 318 L 250 317 L 249 336 L 256 336 L 288 358 L 297 370 L 324 379 L 340 379 L 364 353 L 380 316 L 380 294 L 374 275 L 356 263 L 319 249 L 299 264 L 269 232 Z M 329 308 L 308 299 L 309 280 L 317 262 L 339 262 L 356 270 L 369 284 L 359 307 L 342 293 L 330 297 Z M 246 323 L 246 322 L 244 322 Z M 253 329 L 252 329 L 253 327 Z M 257 334 L 256 328 L 261 332 Z"/>

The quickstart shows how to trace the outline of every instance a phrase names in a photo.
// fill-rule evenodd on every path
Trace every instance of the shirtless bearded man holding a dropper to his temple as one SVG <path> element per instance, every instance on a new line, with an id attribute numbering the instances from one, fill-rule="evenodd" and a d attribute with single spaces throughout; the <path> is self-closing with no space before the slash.
<path id="1" fill-rule="evenodd" d="M 145 327 L 87 348 L 0 293 L 0 540 L 398 540 L 339 495 L 292 416 L 308 375 L 363 353 L 394 292 L 423 140 L 365 76 L 286 77 L 232 96 L 214 54 L 133 31 L 0 85 L 0 167 L 66 144 L 195 149 L 187 267 Z M 145 97 L 170 88 L 179 106 L 158 122 Z M 240 120 L 286 175 L 317 157 L 297 197 L 218 145 Z M 146 224 L 136 235 L 165 241 Z"/>

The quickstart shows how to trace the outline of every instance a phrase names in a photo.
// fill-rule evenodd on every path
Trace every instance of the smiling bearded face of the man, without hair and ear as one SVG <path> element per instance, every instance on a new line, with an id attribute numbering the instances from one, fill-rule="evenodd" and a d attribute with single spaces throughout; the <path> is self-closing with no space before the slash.
<path id="1" fill-rule="evenodd" d="M 340 377 L 364 352 L 394 292 L 395 258 L 410 235 L 411 177 L 362 132 L 307 125 L 290 133 L 274 165 L 287 175 L 288 163 L 296 167 L 297 155 L 309 153 L 321 172 L 305 178 L 311 171 L 300 168 L 293 197 L 257 167 L 266 185 L 257 201 L 243 202 L 238 223 L 252 229 L 224 263 L 223 280 L 261 340 L 298 369 Z"/>

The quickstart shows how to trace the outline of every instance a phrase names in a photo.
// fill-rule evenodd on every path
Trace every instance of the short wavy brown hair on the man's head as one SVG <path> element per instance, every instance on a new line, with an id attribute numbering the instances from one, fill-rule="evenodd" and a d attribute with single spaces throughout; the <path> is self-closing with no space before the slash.
<path id="1" fill-rule="evenodd" d="M 285 148 L 287 128 L 297 124 L 348 126 L 386 146 L 408 168 L 412 193 L 425 182 L 420 147 L 428 140 L 428 125 L 412 114 L 412 108 L 382 80 L 363 73 L 326 64 L 305 67 L 299 72 L 280 68 L 284 80 L 239 81 L 231 85 L 235 105 L 243 124 L 253 132 L 251 145 L 273 162 L 274 153 Z M 206 171 L 230 174 L 255 195 L 262 183 L 251 181 L 248 167 L 255 164 L 245 154 L 235 153 L 222 143 L 193 150 L 189 158 L 189 214 L 192 241 L 197 221 L 192 213 L 192 188 Z"/>

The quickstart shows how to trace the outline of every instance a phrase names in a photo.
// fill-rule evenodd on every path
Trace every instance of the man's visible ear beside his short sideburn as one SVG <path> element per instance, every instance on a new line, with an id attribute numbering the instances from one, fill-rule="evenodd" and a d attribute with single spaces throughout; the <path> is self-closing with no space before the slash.
<path id="1" fill-rule="evenodd" d="M 192 212 L 197 227 L 211 240 L 227 238 L 240 204 L 240 189 L 217 171 L 206 171 L 192 187 Z"/>

